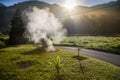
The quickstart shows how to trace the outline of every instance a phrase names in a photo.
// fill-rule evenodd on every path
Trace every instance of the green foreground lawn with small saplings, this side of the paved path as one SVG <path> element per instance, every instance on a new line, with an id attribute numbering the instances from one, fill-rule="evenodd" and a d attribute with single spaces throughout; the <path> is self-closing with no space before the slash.
<path id="1" fill-rule="evenodd" d="M 120 67 L 84 55 L 78 60 L 76 54 L 59 48 L 43 52 L 30 44 L 0 49 L 0 80 L 57 80 L 57 56 L 58 80 L 120 80 Z"/>

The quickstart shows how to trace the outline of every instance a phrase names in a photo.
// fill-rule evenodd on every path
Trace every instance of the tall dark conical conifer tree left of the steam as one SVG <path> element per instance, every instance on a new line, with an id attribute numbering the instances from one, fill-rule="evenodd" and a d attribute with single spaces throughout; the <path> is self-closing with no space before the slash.
<path id="1" fill-rule="evenodd" d="M 8 44 L 17 45 L 25 43 L 26 42 L 26 39 L 24 37 L 25 23 L 22 20 L 21 12 L 19 10 L 16 10 L 11 20 L 10 26 L 11 30 L 9 33 L 10 38 Z"/>

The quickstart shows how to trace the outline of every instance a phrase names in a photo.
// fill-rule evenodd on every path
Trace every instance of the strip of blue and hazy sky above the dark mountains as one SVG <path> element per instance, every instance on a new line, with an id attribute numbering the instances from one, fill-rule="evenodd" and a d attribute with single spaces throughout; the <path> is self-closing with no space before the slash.
<path id="1" fill-rule="evenodd" d="M 29 1 L 29 0 L 0 0 L 0 3 L 3 3 L 6 6 L 13 5 L 18 2 L 23 2 L 23 1 Z M 73 5 L 83 5 L 83 6 L 93 6 L 93 5 L 98 5 L 98 4 L 103 4 L 103 3 L 108 3 L 110 1 L 116 1 L 116 0 L 39 0 L 47 3 L 57 3 L 59 5 L 64 6 L 66 2 L 70 2 Z"/>

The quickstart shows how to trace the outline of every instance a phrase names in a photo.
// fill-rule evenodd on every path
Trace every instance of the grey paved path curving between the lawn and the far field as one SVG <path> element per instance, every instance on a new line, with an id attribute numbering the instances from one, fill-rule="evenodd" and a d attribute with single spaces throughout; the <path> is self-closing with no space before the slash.
<path id="1" fill-rule="evenodd" d="M 67 46 L 58 46 L 58 47 L 77 53 L 76 47 L 67 47 Z M 80 53 L 112 63 L 120 67 L 120 55 L 107 53 L 107 52 L 101 52 L 101 51 L 95 51 L 95 50 L 90 50 L 90 49 L 81 49 Z"/>

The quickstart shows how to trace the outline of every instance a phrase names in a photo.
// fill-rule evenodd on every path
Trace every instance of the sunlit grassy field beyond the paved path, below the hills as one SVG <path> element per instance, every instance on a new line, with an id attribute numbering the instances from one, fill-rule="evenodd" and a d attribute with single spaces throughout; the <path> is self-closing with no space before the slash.
<path id="1" fill-rule="evenodd" d="M 120 54 L 120 37 L 69 36 L 61 43 L 61 45 L 78 45 L 84 48 Z"/>

